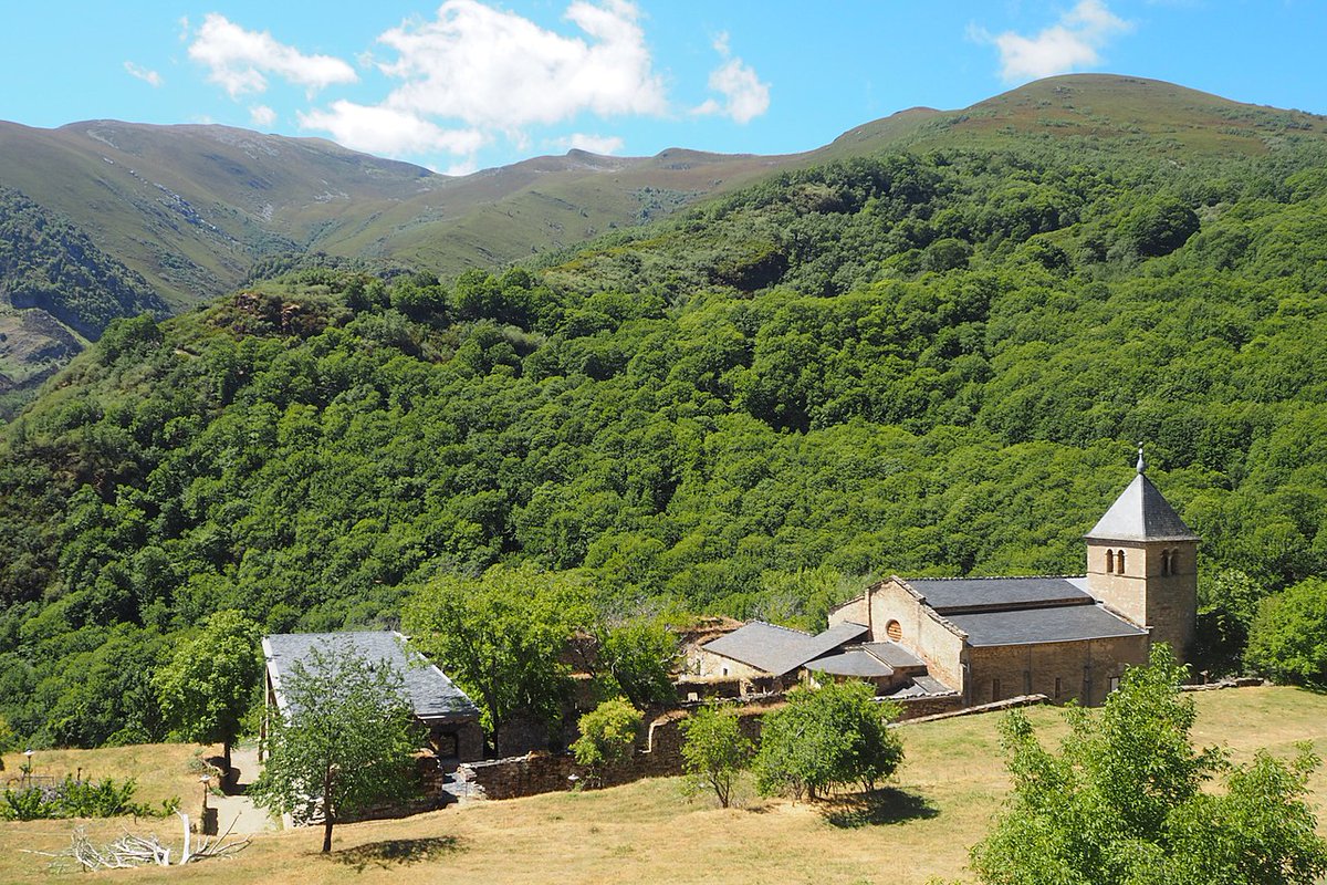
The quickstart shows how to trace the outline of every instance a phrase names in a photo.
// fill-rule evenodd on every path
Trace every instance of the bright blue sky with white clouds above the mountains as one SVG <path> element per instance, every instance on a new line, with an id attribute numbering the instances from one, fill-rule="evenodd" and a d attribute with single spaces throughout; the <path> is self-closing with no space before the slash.
<path id="1" fill-rule="evenodd" d="M 800 151 L 1067 72 L 1327 113 L 1319 1 L 0 0 L 0 119 L 215 122 L 449 172 Z"/>

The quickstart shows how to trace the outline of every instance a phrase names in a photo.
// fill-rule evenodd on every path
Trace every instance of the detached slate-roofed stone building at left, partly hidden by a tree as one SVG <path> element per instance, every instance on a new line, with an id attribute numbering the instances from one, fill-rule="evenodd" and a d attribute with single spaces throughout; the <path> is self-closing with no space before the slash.
<path id="1" fill-rule="evenodd" d="M 284 711 L 281 679 L 296 661 L 318 647 L 334 653 L 349 647 L 372 662 L 386 662 L 405 679 L 406 697 L 415 719 L 427 730 L 429 744 L 443 768 L 475 762 L 484 755 L 479 707 L 435 665 L 406 649 L 405 637 L 393 630 L 360 633 L 277 633 L 263 637 L 267 658 L 265 707 Z M 264 734 L 265 734 L 264 720 Z"/>

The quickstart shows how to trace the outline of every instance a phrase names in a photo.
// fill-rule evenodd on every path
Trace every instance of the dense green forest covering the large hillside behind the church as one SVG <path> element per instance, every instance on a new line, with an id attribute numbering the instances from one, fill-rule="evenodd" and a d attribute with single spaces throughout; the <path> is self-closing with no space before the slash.
<path id="1" fill-rule="evenodd" d="M 802 626 L 872 575 L 1076 573 L 1140 441 L 1233 666 L 1327 575 L 1327 153 L 1269 145 L 844 161 L 496 276 L 115 321 L 3 429 L 0 714 L 159 738 L 210 613 L 391 625 L 498 561 Z"/>

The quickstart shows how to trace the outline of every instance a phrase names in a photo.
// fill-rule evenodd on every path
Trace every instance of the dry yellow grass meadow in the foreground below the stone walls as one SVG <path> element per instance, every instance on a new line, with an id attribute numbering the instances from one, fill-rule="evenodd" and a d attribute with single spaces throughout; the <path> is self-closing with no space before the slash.
<path id="1" fill-rule="evenodd" d="M 1237 758 L 1247 758 L 1259 746 L 1290 752 L 1294 742 L 1306 739 L 1315 742 L 1319 752 L 1327 752 L 1327 697 L 1292 689 L 1247 689 L 1198 695 L 1198 706 L 1196 738 L 1226 744 Z M 1047 738 L 1062 731 L 1056 711 L 1040 709 L 1031 715 Z M 703 799 L 689 803 L 681 797 L 675 779 L 660 779 L 600 792 L 480 803 L 407 820 L 338 827 L 329 857 L 317 852 L 320 832 L 293 831 L 257 837 L 234 860 L 100 878 L 272 885 L 920 885 L 933 876 L 965 878 L 967 847 L 986 832 L 1007 789 L 997 722 L 997 716 L 986 715 L 908 727 L 908 763 L 894 782 L 892 801 L 874 812 L 750 796 L 743 799 L 744 807 L 723 811 Z M 1319 772 L 1312 785 L 1322 807 L 1327 801 L 1327 776 Z M 162 835 L 171 832 L 154 824 Z M 118 824 L 98 823 L 96 828 L 114 833 Z M 1327 827 L 1320 829 L 1327 833 Z M 68 824 L 58 821 L 0 824 L 0 881 L 52 881 L 40 857 L 15 849 L 58 848 L 68 832 Z"/>

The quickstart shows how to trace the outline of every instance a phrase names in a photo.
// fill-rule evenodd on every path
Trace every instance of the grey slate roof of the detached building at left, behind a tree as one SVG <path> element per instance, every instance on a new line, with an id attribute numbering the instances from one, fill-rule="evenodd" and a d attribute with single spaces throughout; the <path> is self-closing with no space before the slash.
<path id="1" fill-rule="evenodd" d="M 283 675 L 296 661 L 304 658 L 309 649 L 318 646 L 326 651 L 346 645 L 369 661 L 387 661 L 401 673 L 406 683 L 406 695 L 419 719 L 439 722 L 479 715 L 475 703 L 442 670 L 426 663 L 423 655 L 415 651 L 410 651 L 407 657 L 405 637 L 391 630 L 277 633 L 263 637 L 263 654 L 267 657 L 267 669 L 276 687 L 277 703 L 285 707 L 281 698 Z"/>

